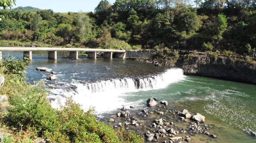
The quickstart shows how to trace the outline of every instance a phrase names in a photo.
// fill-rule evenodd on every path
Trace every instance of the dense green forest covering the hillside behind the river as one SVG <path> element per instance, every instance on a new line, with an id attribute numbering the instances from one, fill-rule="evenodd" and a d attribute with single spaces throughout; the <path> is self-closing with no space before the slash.
<path id="1" fill-rule="evenodd" d="M 1 10 L 2 40 L 43 46 L 179 49 L 252 55 L 256 1 L 101 0 L 94 12 Z"/>

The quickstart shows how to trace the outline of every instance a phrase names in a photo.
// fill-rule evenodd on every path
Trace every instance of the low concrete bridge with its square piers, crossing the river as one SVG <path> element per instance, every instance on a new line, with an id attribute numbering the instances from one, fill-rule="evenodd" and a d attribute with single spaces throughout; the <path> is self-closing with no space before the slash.
<path id="1" fill-rule="evenodd" d="M 46 48 L 46 47 L 0 47 L 0 56 L 2 51 L 23 52 L 23 58 L 32 60 L 32 51 L 48 51 L 48 59 L 57 60 L 57 51 L 69 51 L 69 58 L 78 59 L 78 51 L 88 52 L 89 59 L 96 59 L 97 52 L 104 52 L 104 58 L 112 59 L 113 52 L 115 58 L 126 58 L 126 50 L 93 49 L 93 48 Z"/>

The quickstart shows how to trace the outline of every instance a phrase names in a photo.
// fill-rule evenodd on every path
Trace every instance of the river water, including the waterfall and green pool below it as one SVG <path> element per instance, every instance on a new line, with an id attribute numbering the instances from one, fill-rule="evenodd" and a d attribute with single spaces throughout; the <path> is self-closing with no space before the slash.
<path id="1" fill-rule="evenodd" d="M 8 54 L 8 52 L 2 52 Z M 23 57 L 23 52 L 11 52 Z M 49 60 L 47 52 L 33 52 L 27 70 L 27 82 L 45 81 L 50 88 L 49 99 L 54 108 L 72 96 L 83 108 L 94 106 L 97 116 L 109 118 L 122 106 L 136 114 L 147 108 L 148 98 L 166 100 L 168 110 L 187 109 L 200 113 L 213 127 L 217 138 L 199 135 L 191 142 L 256 142 L 250 131 L 256 131 L 256 85 L 200 76 L 184 76 L 181 69 L 156 67 L 153 64 L 123 59 L 70 60 L 62 58 L 69 52 L 58 52 L 58 60 Z M 36 71 L 47 67 L 58 75 Z M 55 76 L 56 81 L 47 81 Z M 136 109 L 130 109 L 129 106 Z M 185 126 L 185 125 L 180 125 Z"/>

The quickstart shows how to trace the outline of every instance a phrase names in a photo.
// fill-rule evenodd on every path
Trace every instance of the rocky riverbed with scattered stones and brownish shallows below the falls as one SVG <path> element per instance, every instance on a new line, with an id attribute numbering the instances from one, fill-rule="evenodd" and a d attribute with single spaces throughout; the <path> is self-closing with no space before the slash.
<path id="1" fill-rule="evenodd" d="M 154 100 L 155 99 L 155 100 Z M 114 128 L 125 128 L 141 135 L 145 142 L 218 142 L 214 134 L 215 125 L 208 124 L 207 118 L 199 113 L 191 114 L 186 109 L 178 111 L 168 106 L 167 101 L 148 99 L 153 106 L 136 108 L 123 107 L 109 118 L 98 118 Z M 128 110 L 127 110 L 128 108 Z M 129 110 L 133 109 L 135 110 Z"/>

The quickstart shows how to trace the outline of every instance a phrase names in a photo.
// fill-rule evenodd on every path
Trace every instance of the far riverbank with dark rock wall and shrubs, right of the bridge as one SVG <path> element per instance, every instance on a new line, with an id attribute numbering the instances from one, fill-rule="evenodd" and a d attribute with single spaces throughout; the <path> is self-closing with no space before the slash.
<path id="1" fill-rule="evenodd" d="M 184 75 L 219 77 L 256 84 L 256 61 L 249 56 L 191 51 L 164 51 L 153 59 L 134 59 L 183 69 Z"/>

